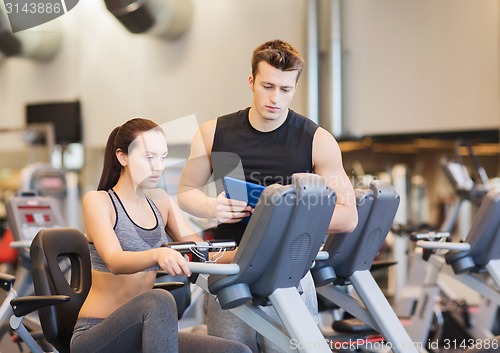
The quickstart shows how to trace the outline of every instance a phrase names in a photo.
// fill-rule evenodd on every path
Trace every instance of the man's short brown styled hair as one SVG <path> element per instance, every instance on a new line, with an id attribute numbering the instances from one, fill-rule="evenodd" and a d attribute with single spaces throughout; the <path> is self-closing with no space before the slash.
<path id="1" fill-rule="evenodd" d="M 272 67 L 281 71 L 297 70 L 297 81 L 304 68 L 304 59 L 298 50 L 291 44 L 279 39 L 270 40 L 255 48 L 252 55 L 253 78 L 257 75 L 257 70 L 261 61 L 265 61 Z"/>

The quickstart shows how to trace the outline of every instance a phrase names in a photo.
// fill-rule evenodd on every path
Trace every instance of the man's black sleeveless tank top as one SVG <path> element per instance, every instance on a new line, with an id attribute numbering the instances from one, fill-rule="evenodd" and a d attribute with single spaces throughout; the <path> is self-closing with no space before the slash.
<path id="1" fill-rule="evenodd" d="M 264 186 L 287 185 L 292 174 L 313 172 L 312 144 L 318 128 L 315 122 L 289 110 L 280 127 L 261 132 L 250 124 L 249 110 L 217 119 L 211 151 L 217 194 L 224 190 L 224 176 L 242 178 L 241 167 L 246 181 Z M 239 243 L 245 228 L 246 224 L 241 222 L 222 223 L 217 226 L 215 238 L 234 239 Z"/>

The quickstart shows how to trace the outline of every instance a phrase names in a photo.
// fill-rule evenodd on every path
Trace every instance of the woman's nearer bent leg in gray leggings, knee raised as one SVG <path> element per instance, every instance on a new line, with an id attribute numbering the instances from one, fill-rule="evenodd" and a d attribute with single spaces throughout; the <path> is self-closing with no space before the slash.
<path id="1" fill-rule="evenodd" d="M 170 293 L 150 290 L 116 310 L 90 329 L 79 329 L 72 353 L 178 352 L 177 307 Z"/>

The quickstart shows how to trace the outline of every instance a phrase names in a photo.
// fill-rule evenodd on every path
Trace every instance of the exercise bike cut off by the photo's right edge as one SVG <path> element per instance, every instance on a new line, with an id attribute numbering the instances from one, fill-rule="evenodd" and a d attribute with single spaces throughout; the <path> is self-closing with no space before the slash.
<path id="1" fill-rule="evenodd" d="M 489 305 L 491 309 L 488 316 L 490 320 L 486 325 L 484 322 L 475 322 L 468 311 L 460 313 L 457 322 L 467 325 L 464 327 L 466 332 L 474 334 L 462 340 L 480 342 L 494 336 L 491 327 L 500 305 L 499 214 L 500 191 L 490 191 L 481 202 L 465 242 L 447 242 L 442 238 L 429 239 L 425 236 L 417 239 L 417 246 L 423 249 L 423 259 L 429 263 L 426 281 L 432 279 L 435 285 L 439 283 L 441 296 L 442 279 L 445 277 L 448 283 L 455 281 L 475 291 L 483 305 Z M 427 288 L 427 284 L 424 283 L 424 288 Z M 437 298 L 437 295 L 431 299 Z M 466 320 L 461 321 L 464 317 Z"/>

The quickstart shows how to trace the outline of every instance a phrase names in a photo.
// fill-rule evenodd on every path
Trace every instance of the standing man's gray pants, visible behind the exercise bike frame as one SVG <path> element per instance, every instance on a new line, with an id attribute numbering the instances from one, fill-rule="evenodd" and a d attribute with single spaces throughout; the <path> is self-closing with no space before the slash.
<path id="1" fill-rule="evenodd" d="M 302 294 L 300 296 L 302 301 L 306 304 L 316 323 L 319 324 L 318 299 L 310 272 L 302 278 L 300 287 L 302 289 Z M 276 322 L 281 323 L 278 314 L 272 306 L 261 308 L 266 314 L 276 320 Z M 244 323 L 231 311 L 223 310 L 215 298 L 209 294 L 205 295 L 205 314 L 209 335 L 242 342 L 250 347 L 253 353 L 283 352 L 283 350 L 257 333 L 257 331 Z"/>

